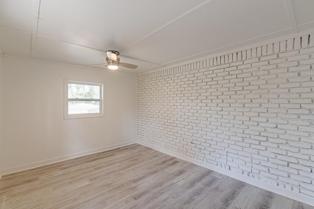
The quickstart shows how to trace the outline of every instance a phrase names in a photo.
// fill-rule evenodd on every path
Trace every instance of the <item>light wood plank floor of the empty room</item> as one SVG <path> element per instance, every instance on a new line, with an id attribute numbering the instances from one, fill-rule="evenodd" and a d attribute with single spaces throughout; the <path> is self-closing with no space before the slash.
<path id="1" fill-rule="evenodd" d="M 1 209 L 313 209 L 141 145 L 3 176 Z"/>

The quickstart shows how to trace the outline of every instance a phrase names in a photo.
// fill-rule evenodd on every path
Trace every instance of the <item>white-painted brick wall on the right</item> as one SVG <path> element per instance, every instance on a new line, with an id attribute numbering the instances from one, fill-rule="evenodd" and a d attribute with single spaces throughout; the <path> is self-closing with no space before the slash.
<path id="1" fill-rule="evenodd" d="M 314 34 L 138 76 L 137 140 L 314 197 Z"/>

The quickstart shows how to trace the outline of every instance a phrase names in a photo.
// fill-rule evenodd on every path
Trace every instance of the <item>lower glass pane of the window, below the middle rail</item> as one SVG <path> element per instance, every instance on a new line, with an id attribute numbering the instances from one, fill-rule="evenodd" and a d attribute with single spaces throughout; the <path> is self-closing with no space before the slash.
<path id="1" fill-rule="evenodd" d="M 100 113 L 100 102 L 99 101 L 69 101 L 68 102 L 68 114 L 89 114 L 89 113 Z"/>

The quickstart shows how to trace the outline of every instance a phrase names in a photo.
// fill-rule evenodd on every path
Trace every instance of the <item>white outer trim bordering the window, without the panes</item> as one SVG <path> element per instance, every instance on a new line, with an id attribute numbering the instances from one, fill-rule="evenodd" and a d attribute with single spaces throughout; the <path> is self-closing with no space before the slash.
<path id="1" fill-rule="evenodd" d="M 101 85 L 100 92 L 100 113 L 88 113 L 88 114 L 68 114 L 68 82 L 78 82 L 78 83 L 86 83 L 86 84 L 97 84 Z M 98 118 L 105 117 L 105 84 L 102 82 L 95 82 L 90 80 L 82 80 L 82 79 L 70 79 L 64 78 L 64 104 L 63 104 L 63 118 L 64 119 L 76 119 L 76 118 Z"/>

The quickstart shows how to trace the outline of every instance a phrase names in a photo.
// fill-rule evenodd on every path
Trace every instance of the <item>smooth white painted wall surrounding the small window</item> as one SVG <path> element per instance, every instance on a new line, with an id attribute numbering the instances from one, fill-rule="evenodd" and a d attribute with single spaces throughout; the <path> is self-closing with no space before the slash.
<path id="1" fill-rule="evenodd" d="M 135 75 L 10 55 L 2 70 L 3 174 L 136 141 Z M 64 78 L 104 82 L 105 117 L 64 120 Z"/>

